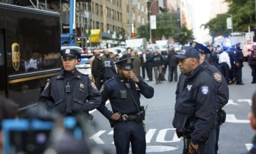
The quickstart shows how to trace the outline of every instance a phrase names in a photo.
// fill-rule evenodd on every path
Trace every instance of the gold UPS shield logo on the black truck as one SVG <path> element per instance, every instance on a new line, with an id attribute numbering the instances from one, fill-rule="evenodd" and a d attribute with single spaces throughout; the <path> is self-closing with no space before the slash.
<path id="1" fill-rule="evenodd" d="M 12 65 L 18 71 L 20 67 L 20 45 L 18 43 L 12 44 Z"/>

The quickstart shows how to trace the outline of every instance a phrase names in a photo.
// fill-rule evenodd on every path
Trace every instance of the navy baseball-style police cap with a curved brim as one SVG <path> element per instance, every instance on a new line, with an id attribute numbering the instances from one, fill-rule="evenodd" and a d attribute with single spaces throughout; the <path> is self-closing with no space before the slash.
<path id="1" fill-rule="evenodd" d="M 198 51 L 190 46 L 182 47 L 178 55 L 172 56 L 173 59 L 200 58 Z"/>

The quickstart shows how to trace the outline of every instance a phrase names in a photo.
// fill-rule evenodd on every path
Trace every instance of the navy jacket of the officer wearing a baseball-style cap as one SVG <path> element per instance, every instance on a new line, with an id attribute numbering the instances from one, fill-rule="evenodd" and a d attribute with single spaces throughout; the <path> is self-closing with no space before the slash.
<path id="1" fill-rule="evenodd" d="M 181 82 L 184 82 L 183 86 L 179 84 Z M 184 77 L 184 80 L 179 80 L 179 83 L 173 126 L 179 134 L 189 133 L 191 141 L 198 144 L 216 125 L 216 84 L 202 65 Z"/>

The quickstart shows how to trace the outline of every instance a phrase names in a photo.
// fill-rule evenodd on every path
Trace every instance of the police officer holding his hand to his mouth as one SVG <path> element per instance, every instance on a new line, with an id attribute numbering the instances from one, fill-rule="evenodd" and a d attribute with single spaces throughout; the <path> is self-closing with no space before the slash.
<path id="1" fill-rule="evenodd" d="M 133 60 L 126 58 L 117 62 L 119 75 L 107 80 L 100 89 L 102 103 L 97 110 L 113 124 L 117 154 L 128 154 L 130 142 L 133 154 L 146 154 L 146 130 L 142 122 L 145 112 L 139 96 L 141 93 L 146 98 L 152 98 L 154 89 L 142 77 L 135 76 Z M 113 112 L 105 106 L 107 99 Z"/>

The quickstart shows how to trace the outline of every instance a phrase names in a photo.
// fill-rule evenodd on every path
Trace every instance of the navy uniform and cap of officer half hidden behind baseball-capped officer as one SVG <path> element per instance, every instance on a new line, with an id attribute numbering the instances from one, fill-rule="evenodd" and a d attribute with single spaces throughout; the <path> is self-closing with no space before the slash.
<path id="1" fill-rule="evenodd" d="M 194 43 L 194 45 L 193 45 Z M 190 43 L 192 47 L 197 49 L 199 53 L 210 54 L 210 50 L 206 48 L 203 44 L 192 42 Z M 220 135 L 220 125 L 225 122 L 226 113 L 222 110 L 229 100 L 229 88 L 225 79 L 222 77 L 222 73 L 214 66 L 206 61 L 202 63 L 204 71 L 206 71 L 211 77 L 214 78 L 217 85 L 217 121 L 216 121 L 216 143 L 215 143 L 215 154 L 218 151 L 218 139 Z M 211 145 L 210 142 L 207 144 Z"/>

